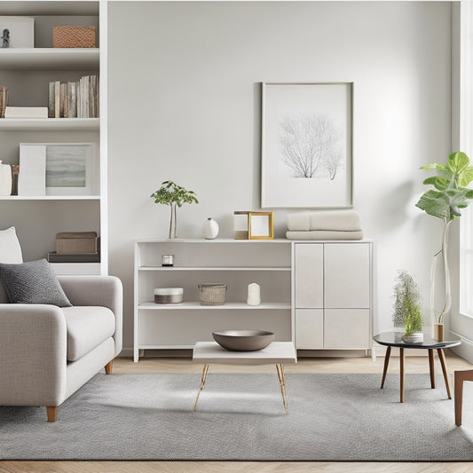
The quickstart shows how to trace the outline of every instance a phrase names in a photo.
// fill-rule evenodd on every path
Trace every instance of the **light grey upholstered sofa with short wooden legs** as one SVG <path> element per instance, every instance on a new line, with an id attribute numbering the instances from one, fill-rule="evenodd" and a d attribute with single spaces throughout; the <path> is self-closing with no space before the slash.
<path id="1" fill-rule="evenodd" d="M 58 406 L 122 351 L 122 283 L 59 276 L 72 307 L 9 304 L 0 284 L 0 406 Z"/>

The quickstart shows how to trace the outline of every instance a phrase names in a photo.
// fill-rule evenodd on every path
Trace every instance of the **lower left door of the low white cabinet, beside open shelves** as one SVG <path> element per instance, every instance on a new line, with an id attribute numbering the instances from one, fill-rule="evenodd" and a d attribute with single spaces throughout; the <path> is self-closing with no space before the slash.
<path id="1" fill-rule="evenodd" d="M 296 309 L 296 349 L 324 348 L 323 309 Z"/>

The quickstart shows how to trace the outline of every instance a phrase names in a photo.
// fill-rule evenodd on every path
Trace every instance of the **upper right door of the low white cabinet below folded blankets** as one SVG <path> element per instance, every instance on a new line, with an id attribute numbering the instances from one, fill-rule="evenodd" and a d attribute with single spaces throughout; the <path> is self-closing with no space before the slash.
<path id="1" fill-rule="evenodd" d="M 325 307 L 370 307 L 370 246 L 368 243 L 326 243 Z"/>

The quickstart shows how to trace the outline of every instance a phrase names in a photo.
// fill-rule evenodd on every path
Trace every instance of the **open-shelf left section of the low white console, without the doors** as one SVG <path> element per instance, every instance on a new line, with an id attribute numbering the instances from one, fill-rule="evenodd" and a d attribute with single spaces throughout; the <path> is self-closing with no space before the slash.
<path id="1" fill-rule="evenodd" d="M 275 250 L 277 248 L 277 251 Z M 175 265 L 163 267 L 162 255 Z M 225 305 L 204 306 L 198 284 L 227 284 Z M 262 304 L 246 303 L 248 284 Z M 182 304 L 154 304 L 154 288 L 184 288 Z M 293 339 L 291 246 L 288 240 L 144 240 L 135 245 L 134 359 L 151 349 L 188 349 L 224 328 L 264 328 Z"/>

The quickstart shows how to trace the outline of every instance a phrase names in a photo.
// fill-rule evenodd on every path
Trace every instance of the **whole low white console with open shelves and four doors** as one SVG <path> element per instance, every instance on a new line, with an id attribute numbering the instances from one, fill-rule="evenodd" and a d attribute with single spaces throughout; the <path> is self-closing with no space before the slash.
<path id="1" fill-rule="evenodd" d="M 300 350 L 371 348 L 372 243 L 291 240 L 142 240 L 135 244 L 134 359 L 188 349 L 223 329 L 271 330 Z M 162 255 L 174 255 L 172 267 Z M 199 283 L 227 284 L 225 305 L 199 302 Z M 248 284 L 261 288 L 248 305 Z M 154 304 L 154 288 L 184 288 Z"/>

